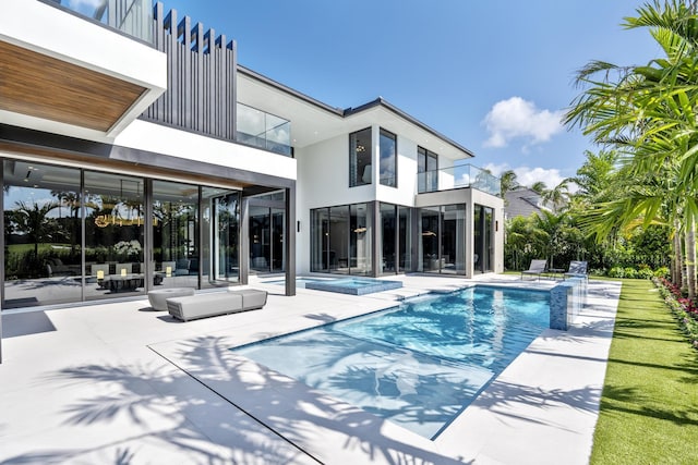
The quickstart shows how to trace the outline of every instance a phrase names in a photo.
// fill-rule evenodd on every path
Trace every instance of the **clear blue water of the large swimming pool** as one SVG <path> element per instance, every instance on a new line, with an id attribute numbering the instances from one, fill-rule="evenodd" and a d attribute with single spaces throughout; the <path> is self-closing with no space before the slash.
<path id="1" fill-rule="evenodd" d="M 549 292 L 476 286 L 232 351 L 435 438 L 549 315 Z"/>

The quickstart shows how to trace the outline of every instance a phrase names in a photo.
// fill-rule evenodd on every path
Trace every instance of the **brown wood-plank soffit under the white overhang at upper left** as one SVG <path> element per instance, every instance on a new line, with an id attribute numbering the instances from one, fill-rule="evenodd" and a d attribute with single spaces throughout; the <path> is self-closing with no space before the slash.
<path id="1" fill-rule="evenodd" d="M 0 109 L 108 132 L 145 87 L 0 40 Z"/>

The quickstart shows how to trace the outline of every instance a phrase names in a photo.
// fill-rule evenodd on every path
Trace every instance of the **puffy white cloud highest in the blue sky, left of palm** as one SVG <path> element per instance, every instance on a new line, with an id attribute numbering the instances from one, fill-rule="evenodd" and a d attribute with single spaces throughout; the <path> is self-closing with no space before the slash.
<path id="1" fill-rule="evenodd" d="M 512 97 L 497 101 L 484 117 L 490 138 L 485 147 L 506 147 L 512 139 L 525 139 L 526 146 L 541 144 L 563 130 L 563 110 L 540 110 L 532 101 Z"/>

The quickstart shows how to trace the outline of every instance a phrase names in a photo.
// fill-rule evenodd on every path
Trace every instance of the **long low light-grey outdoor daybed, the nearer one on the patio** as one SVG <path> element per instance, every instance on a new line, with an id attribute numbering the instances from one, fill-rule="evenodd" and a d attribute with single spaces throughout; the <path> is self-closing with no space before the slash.
<path id="1" fill-rule="evenodd" d="M 167 298 L 167 310 L 182 321 L 217 315 L 253 310 L 266 305 L 266 291 L 245 289 L 239 291 L 194 294 Z"/>

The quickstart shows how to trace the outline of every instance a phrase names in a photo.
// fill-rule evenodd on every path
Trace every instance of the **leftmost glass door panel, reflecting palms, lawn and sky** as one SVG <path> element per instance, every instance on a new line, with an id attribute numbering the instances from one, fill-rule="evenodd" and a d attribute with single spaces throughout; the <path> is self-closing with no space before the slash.
<path id="1" fill-rule="evenodd" d="M 80 170 L 5 160 L 3 171 L 2 308 L 80 301 Z"/>

